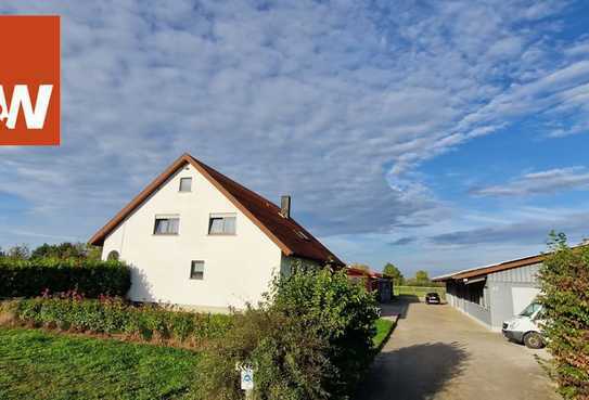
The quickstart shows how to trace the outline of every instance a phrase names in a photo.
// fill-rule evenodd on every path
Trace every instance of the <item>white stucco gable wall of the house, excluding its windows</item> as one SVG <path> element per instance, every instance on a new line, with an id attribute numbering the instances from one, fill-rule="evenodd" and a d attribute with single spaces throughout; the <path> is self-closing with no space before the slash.
<path id="1" fill-rule="evenodd" d="M 179 192 L 192 177 L 192 191 Z M 208 235 L 210 214 L 235 212 L 235 235 Z M 156 215 L 179 215 L 178 235 L 154 235 Z M 116 250 L 133 269 L 129 298 L 204 309 L 256 302 L 281 269 L 282 253 L 192 166 L 179 170 L 105 240 L 102 257 Z M 204 280 L 191 280 L 192 260 L 204 260 Z"/>

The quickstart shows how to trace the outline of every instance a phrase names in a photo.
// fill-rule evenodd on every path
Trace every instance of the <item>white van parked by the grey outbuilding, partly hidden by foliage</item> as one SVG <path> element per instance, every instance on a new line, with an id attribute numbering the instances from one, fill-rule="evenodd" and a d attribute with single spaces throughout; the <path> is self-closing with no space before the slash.
<path id="1" fill-rule="evenodd" d="M 542 318 L 542 305 L 534 300 L 518 315 L 503 322 L 501 332 L 508 339 L 523 343 L 530 349 L 540 349 L 545 346 L 538 322 Z"/>

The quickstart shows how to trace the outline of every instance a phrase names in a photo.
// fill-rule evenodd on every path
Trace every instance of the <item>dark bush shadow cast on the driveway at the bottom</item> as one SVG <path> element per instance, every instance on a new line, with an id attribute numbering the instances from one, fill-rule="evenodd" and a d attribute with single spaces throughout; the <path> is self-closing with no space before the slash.
<path id="1" fill-rule="evenodd" d="M 404 347 L 379 354 L 355 399 L 423 400 L 459 375 L 468 352 L 457 341 Z"/>

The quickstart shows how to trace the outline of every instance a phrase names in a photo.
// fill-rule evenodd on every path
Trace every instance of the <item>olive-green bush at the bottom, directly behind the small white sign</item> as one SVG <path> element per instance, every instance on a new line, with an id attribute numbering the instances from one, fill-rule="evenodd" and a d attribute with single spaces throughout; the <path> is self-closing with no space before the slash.
<path id="1" fill-rule="evenodd" d="M 299 322 L 272 308 L 235 314 L 232 328 L 203 354 L 197 398 L 243 399 L 235 363 L 246 362 L 255 367 L 254 399 L 326 399 L 323 383 L 334 372 L 329 344 Z"/>

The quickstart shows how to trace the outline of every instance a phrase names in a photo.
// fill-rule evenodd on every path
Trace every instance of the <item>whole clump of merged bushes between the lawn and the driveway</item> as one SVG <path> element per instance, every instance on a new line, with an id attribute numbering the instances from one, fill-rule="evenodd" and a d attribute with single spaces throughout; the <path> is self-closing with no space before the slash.
<path id="1" fill-rule="evenodd" d="M 374 297 L 344 272 L 295 271 L 205 351 L 200 398 L 242 399 L 235 362 L 246 362 L 253 399 L 345 399 L 374 356 L 376 319 Z"/>

